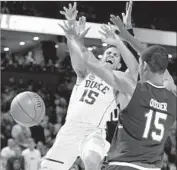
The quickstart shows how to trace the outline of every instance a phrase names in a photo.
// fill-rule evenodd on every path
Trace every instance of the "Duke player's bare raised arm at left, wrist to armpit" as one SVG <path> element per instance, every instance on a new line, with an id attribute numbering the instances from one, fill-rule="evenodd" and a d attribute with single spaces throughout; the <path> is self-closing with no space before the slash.
<path id="1" fill-rule="evenodd" d="M 82 60 L 82 58 L 79 56 L 78 53 L 75 52 L 73 43 L 74 42 L 70 40 L 67 41 L 69 53 L 71 57 L 71 64 L 77 76 L 80 78 L 84 78 L 89 73 L 89 71 L 87 67 L 85 66 L 85 63 Z"/>

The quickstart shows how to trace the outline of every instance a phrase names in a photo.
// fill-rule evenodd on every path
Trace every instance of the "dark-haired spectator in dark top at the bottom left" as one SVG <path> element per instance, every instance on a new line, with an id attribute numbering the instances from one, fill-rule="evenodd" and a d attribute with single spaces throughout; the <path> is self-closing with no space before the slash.
<path id="1" fill-rule="evenodd" d="M 21 148 L 17 145 L 14 148 L 15 156 L 10 157 L 7 160 L 7 169 L 6 170 L 25 170 L 24 169 L 24 157 L 21 155 Z"/>

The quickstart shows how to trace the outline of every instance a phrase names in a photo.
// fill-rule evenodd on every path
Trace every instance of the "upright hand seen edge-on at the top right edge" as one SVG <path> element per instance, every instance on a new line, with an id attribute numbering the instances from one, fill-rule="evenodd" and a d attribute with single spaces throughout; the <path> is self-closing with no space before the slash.
<path id="1" fill-rule="evenodd" d="M 132 5 L 133 5 L 132 0 L 130 0 L 130 2 L 127 2 L 125 9 L 126 12 L 122 13 L 123 23 L 125 24 L 127 29 L 132 28 Z"/>

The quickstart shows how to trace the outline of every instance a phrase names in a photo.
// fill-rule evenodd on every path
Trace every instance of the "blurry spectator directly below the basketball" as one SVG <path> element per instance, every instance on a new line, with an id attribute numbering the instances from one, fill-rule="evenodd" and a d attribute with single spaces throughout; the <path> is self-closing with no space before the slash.
<path id="1" fill-rule="evenodd" d="M 23 149 L 28 147 L 27 140 L 31 137 L 31 131 L 28 127 L 16 124 L 12 128 L 11 135 Z"/>

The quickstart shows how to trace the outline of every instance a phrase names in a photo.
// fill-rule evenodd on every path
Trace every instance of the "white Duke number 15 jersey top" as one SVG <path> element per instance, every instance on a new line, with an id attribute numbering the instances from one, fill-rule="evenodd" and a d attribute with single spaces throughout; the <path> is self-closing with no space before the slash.
<path id="1" fill-rule="evenodd" d="M 113 88 L 90 73 L 71 94 L 66 124 L 105 128 L 116 107 Z"/>

